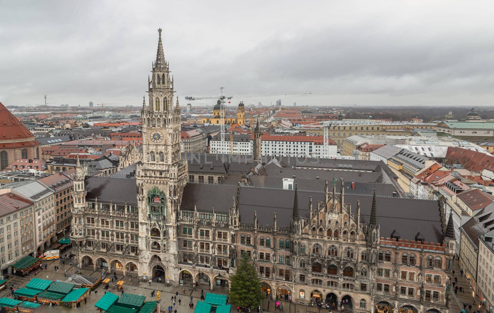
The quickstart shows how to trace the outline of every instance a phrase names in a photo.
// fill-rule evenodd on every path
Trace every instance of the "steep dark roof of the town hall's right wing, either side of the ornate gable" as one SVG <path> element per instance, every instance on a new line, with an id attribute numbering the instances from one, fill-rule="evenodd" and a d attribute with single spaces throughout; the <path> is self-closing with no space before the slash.
<path id="1" fill-rule="evenodd" d="M 313 202 L 323 201 L 324 193 L 297 191 L 300 216 L 308 216 L 309 197 Z M 277 213 L 278 226 L 289 227 L 293 208 L 293 191 L 241 187 L 239 210 L 242 221 L 251 221 L 253 211 L 257 211 L 260 224 L 272 225 L 273 213 Z M 352 205 L 352 213 L 357 210 L 360 200 L 361 223 L 370 221 L 372 196 L 345 195 L 345 203 Z M 400 197 L 376 196 L 376 216 L 380 225 L 381 237 L 390 237 L 399 230 L 402 239 L 414 240 L 417 232 L 425 241 L 442 242 L 443 232 L 437 201 Z"/>

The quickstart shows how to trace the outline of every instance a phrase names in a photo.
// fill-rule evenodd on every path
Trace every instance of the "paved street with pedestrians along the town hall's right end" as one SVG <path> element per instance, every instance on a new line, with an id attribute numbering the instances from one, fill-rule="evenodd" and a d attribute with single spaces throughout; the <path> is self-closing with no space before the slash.
<path id="1" fill-rule="evenodd" d="M 472 305 L 472 310 L 469 310 L 470 312 L 473 311 L 479 311 L 482 313 L 487 312 L 483 306 L 479 308 L 480 301 L 477 297 L 474 297 L 474 292 L 469 279 L 465 275 L 460 274 L 461 268 L 459 267 L 457 260 L 453 262 L 453 271 L 454 271 L 454 275 L 451 275 L 452 283 L 451 283 L 451 297 L 450 297 L 451 299 L 450 312 L 451 313 L 460 312 L 463 309 L 463 304 L 467 305 L 466 307 L 467 310 L 468 310 L 468 305 Z M 463 292 L 458 291 L 456 294 L 454 293 L 454 287 L 453 287 L 454 277 L 458 278 L 458 282 L 456 283 L 456 285 L 458 287 L 462 287 L 464 289 Z"/>

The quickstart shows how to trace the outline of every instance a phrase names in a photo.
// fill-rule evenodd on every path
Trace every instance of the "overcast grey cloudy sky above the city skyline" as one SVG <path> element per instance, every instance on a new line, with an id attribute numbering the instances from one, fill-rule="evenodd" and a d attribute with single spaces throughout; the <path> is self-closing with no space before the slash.
<path id="1" fill-rule="evenodd" d="M 184 96 L 491 105 L 492 1 L 0 0 L 0 102 L 139 105 L 163 28 Z M 214 101 L 210 101 L 211 103 Z M 198 104 L 210 102 L 196 101 Z"/>

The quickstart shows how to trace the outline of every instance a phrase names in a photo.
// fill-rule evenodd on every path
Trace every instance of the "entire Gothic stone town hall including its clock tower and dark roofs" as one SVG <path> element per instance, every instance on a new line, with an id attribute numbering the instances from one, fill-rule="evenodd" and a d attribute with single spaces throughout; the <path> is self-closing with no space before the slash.
<path id="1" fill-rule="evenodd" d="M 77 166 L 71 238 L 80 267 L 225 290 L 247 253 L 273 299 L 449 311 L 455 238 L 441 202 L 345 194 L 336 179 L 324 191 L 190 182 L 159 33 L 135 175 L 88 177 Z"/>

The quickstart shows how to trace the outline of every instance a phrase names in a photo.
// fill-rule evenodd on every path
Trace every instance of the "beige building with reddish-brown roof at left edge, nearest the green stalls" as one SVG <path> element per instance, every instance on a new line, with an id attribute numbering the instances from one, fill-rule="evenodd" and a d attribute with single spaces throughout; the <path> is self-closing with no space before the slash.
<path id="1" fill-rule="evenodd" d="M 35 251 L 33 202 L 14 194 L 0 196 L 0 262 L 2 273 L 12 274 L 10 265 Z"/>

